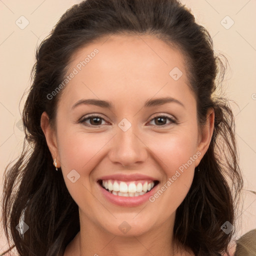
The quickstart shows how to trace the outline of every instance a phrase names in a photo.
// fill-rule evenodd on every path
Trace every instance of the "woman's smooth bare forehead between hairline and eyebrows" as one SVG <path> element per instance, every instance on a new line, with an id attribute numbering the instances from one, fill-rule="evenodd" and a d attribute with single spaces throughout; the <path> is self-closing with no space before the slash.
<path id="1" fill-rule="evenodd" d="M 181 52 L 154 36 L 108 35 L 73 54 L 66 75 L 76 74 L 61 97 L 70 103 L 89 96 L 130 103 L 156 94 L 182 98 L 191 94 L 186 68 Z"/>

